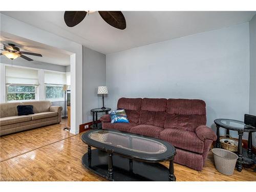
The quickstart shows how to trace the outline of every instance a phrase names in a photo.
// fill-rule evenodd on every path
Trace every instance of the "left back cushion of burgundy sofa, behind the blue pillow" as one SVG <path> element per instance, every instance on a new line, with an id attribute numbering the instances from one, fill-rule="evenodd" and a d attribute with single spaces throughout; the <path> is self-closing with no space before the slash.
<path id="1" fill-rule="evenodd" d="M 124 109 L 129 122 L 139 123 L 141 98 L 120 98 L 117 102 L 117 109 Z"/>

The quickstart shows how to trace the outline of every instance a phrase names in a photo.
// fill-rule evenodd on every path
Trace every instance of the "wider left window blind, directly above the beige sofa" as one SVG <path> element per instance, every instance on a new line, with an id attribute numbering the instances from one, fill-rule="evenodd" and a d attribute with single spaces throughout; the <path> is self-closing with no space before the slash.
<path id="1" fill-rule="evenodd" d="M 6 84 L 35 84 L 38 85 L 38 71 L 33 69 L 6 66 Z"/>

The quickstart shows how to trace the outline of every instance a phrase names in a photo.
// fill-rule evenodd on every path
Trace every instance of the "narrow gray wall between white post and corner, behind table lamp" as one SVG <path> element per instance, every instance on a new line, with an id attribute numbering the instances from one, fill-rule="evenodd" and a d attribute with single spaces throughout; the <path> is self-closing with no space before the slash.
<path id="1" fill-rule="evenodd" d="M 105 86 L 105 55 L 83 46 L 82 66 L 82 110 L 83 123 L 92 121 L 91 109 L 102 106 L 102 98 L 97 95 L 98 86 Z M 100 116 L 101 114 L 99 114 Z"/>

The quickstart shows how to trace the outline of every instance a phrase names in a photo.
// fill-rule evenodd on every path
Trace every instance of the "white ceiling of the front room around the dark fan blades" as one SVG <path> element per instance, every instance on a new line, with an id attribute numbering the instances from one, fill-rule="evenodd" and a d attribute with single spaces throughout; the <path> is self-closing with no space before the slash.
<path id="1" fill-rule="evenodd" d="M 35 27 L 78 42 L 104 54 L 248 22 L 254 12 L 123 11 L 126 29 L 106 24 L 98 12 L 73 28 L 61 11 L 2 12 Z"/>

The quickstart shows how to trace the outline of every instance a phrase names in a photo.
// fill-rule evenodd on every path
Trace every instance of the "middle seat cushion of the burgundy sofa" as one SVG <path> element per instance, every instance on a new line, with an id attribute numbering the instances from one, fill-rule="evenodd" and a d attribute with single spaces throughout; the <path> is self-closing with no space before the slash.
<path id="1" fill-rule="evenodd" d="M 163 130 L 164 129 L 159 126 L 140 124 L 138 126 L 132 127 L 130 133 L 158 138 L 160 132 Z"/>

